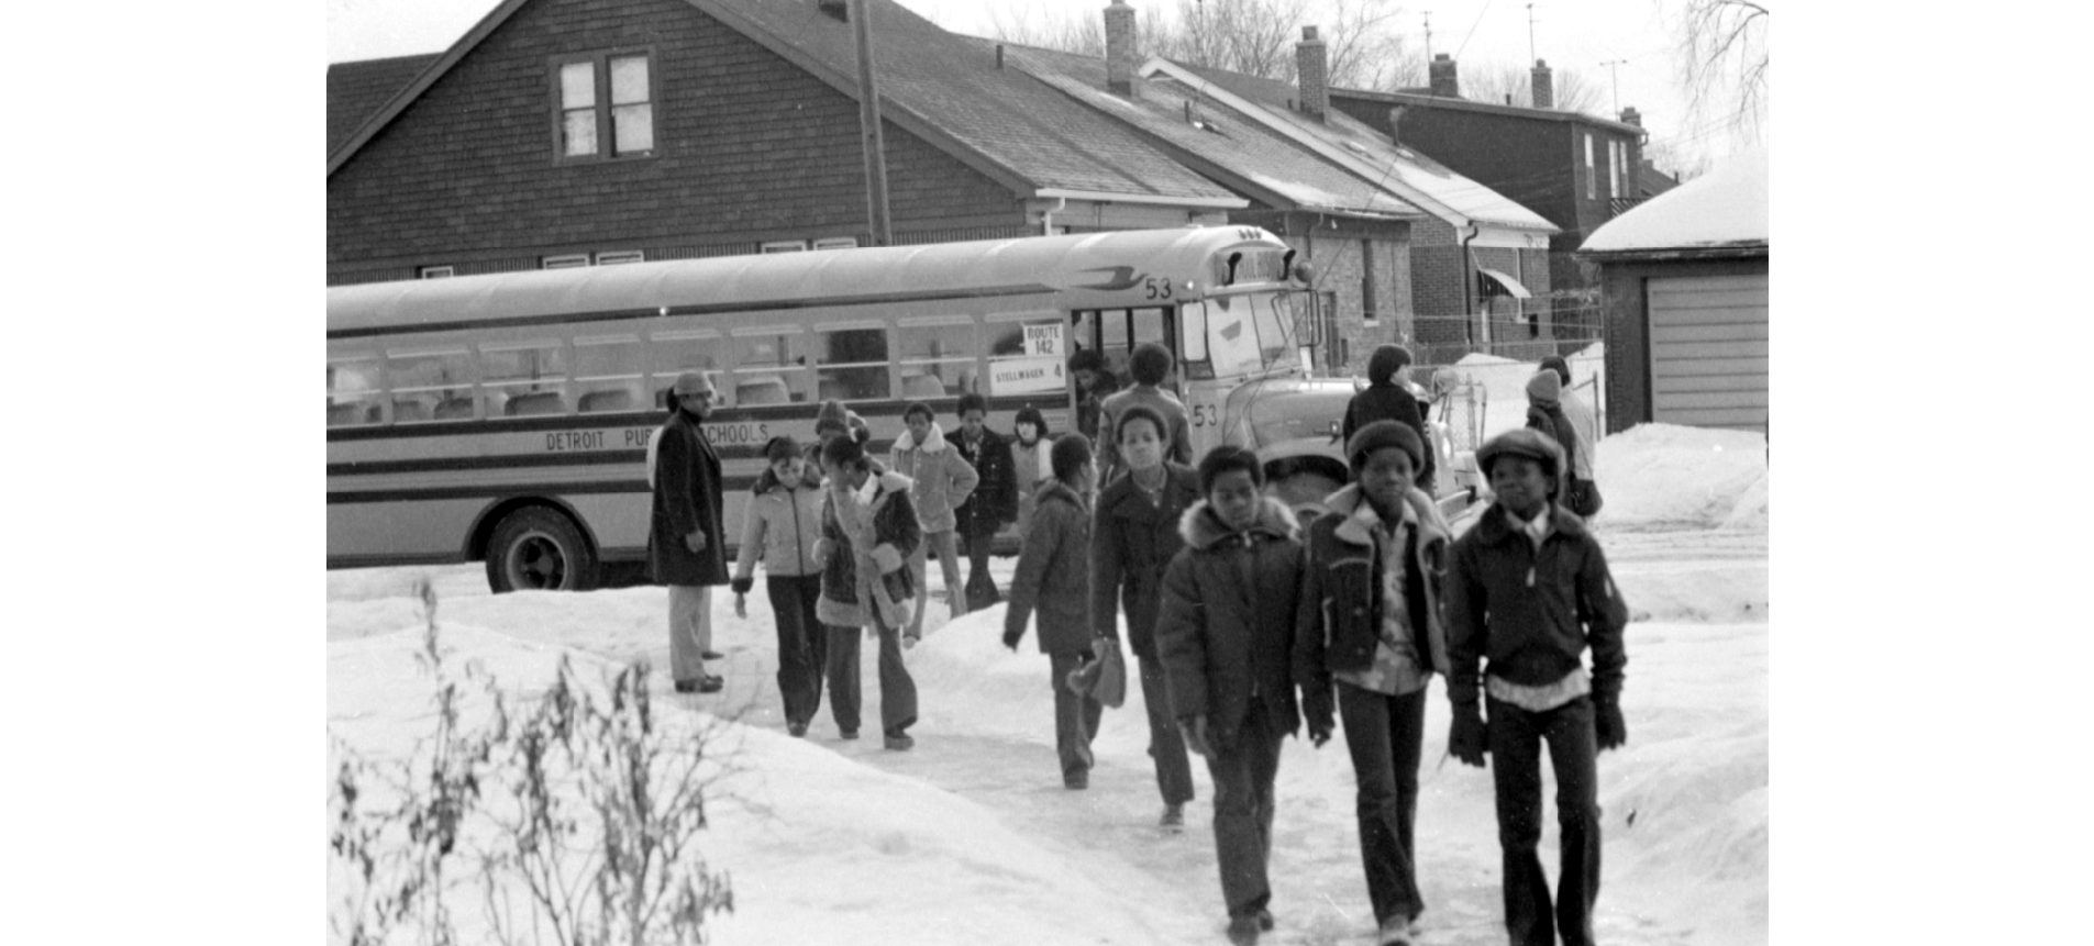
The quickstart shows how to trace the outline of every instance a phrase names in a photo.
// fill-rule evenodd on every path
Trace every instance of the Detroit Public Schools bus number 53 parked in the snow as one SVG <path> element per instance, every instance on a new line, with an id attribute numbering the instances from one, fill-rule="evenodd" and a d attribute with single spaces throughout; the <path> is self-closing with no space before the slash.
<path id="1" fill-rule="evenodd" d="M 329 287 L 327 567 L 486 561 L 503 592 L 645 561 L 647 442 L 685 370 L 720 391 L 729 542 L 764 442 L 812 444 L 827 398 L 882 454 L 907 404 L 953 427 L 965 391 L 999 431 L 1037 406 L 1060 433 L 1068 356 L 1124 377 L 1143 341 L 1177 356 L 1196 454 L 1342 481 L 1353 385 L 1305 377 L 1309 276 L 1277 236 L 1212 226 Z"/>

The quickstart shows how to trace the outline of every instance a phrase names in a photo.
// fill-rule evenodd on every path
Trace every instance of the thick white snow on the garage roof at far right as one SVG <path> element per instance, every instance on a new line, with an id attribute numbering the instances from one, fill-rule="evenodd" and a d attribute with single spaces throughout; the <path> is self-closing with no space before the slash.
<path id="1" fill-rule="evenodd" d="M 1767 245 L 1767 151 L 1723 161 L 1594 230 L 1583 253 Z"/>

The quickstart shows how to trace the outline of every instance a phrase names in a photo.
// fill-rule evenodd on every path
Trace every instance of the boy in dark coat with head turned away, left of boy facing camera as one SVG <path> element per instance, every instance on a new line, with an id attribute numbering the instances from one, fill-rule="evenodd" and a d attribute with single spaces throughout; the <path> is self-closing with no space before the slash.
<path id="1" fill-rule="evenodd" d="M 1062 785 L 1091 785 L 1091 733 L 1106 712 L 1089 693 L 1068 689 L 1068 674 L 1091 661 L 1091 442 L 1083 433 L 1053 444 L 1053 479 L 1039 490 L 1026 548 L 1011 576 L 1011 607 L 1003 613 L 1003 647 L 1018 649 L 1026 620 L 1039 611 L 1041 653 L 1053 686 L 1053 737 L 1062 753 Z"/>

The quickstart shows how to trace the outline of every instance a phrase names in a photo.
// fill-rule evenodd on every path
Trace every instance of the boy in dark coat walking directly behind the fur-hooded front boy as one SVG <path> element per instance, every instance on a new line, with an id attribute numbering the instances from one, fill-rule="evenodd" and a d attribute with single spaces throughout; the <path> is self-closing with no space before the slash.
<path id="1" fill-rule="evenodd" d="M 1118 615 L 1127 611 L 1127 636 L 1139 661 L 1141 703 L 1148 707 L 1156 791 L 1164 797 L 1160 825 L 1179 831 L 1185 827 L 1185 802 L 1191 802 L 1191 760 L 1171 716 L 1164 666 L 1156 657 L 1156 611 L 1164 569 L 1185 548 L 1179 519 L 1200 500 L 1200 475 L 1164 460 L 1171 433 L 1158 412 L 1135 404 L 1120 412 L 1116 433 L 1129 473 L 1097 496 L 1097 521 L 1091 525 L 1091 632 L 1118 647 Z"/>

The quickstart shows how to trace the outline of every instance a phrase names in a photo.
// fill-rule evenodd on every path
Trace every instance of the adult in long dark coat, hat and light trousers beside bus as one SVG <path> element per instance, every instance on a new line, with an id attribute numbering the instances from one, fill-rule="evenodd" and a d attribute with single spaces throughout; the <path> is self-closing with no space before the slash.
<path id="1" fill-rule="evenodd" d="M 725 680 L 706 672 L 712 651 L 712 586 L 727 584 L 727 542 L 720 538 L 720 456 L 699 423 L 712 414 L 712 381 L 687 370 L 670 389 L 674 410 L 655 431 L 653 519 L 647 563 L 668 586 L 668 659 L 676 693 L 718 693 Z"/>

